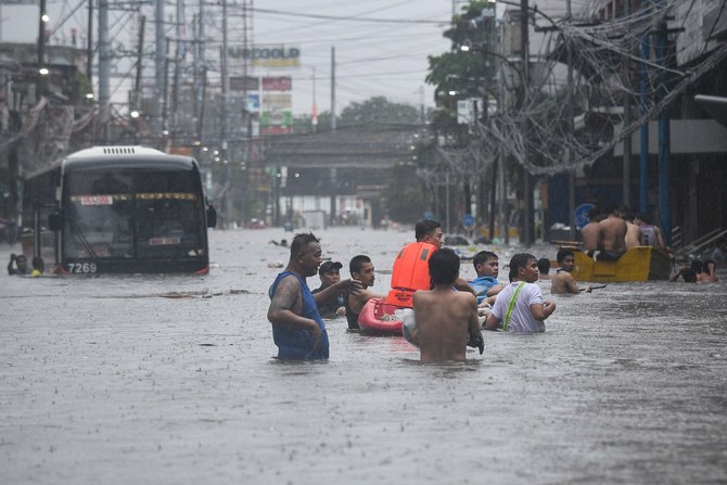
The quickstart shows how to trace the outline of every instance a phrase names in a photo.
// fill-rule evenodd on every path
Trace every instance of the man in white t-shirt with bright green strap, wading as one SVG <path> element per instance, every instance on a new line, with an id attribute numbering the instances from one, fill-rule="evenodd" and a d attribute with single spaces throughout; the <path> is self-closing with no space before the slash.
<path id="1" fill-rule="evenodd" d="M 485 329 L 496 330 L 501 322 L 505 331 L 545 332 L 544 320 L 556 311 L 556 304 L 543 301 L 540 288 L 534 284 L 537 279 L 535 256 L 527 253 L 512 256 L 510 284 L 497 295 Z"/>

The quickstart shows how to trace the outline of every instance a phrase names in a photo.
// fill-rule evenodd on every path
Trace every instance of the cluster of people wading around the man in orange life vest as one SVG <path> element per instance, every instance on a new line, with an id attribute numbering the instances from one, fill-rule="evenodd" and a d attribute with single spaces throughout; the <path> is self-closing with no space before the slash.
<path id="1" fill-rule="evenodd" d="M 416 330 L 410 341 L 419 346 L 422 361 L 462 360 L 467 346 L 484 349 L 482 329 L 543 332 L 544 321 L 556 304 L 543 298 L 537 258 L 518 254 L 510 261 L 510 283 L 497 280 L 499 259 L 483 251 L 473 259 L 477 278 L 460 276 L 460 257 L 442 247 L 441 225 L 421 220 L 417 241 L 396 256 L 392 288 L 375 295 L 374 266 L 366 255 L 349 263 L 350 279 L 341 279 L 341 263 L 322 263 L 320 241 L 311 233 L 297 234 L 284 271 L 270 286 L 268 319 L 272 323 L 278 357 L 326 359 L 329 341 L 323 317 L 345 315 L 350 329 L 358 328 L 358 315 L 371 298 L 381 298 L 399 308 L 412 308 Z M 322 264 L 321 264 L 322 263 Z M 310 291 L 307 277 L 318 272 L 321 286 Z M 457 290 L 457 291 L 455 291 Z"/>

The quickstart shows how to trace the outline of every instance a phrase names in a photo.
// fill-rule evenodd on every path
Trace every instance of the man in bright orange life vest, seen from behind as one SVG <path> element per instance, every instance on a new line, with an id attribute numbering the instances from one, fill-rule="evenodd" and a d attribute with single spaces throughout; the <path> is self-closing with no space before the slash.
<path id="1" fill-rule="evenodd" d="M 417 290 L 430 290 L 432 281 L 429 275 L 429 259 L 442 247 L 442 227 L 439 222 L 423 219 L 414 228 L 417 242 L 404 246 L 394 260 L 392 289 L 386 296 L 390 305 L 411 308 L 412 295 Z M 461 277 L 454 286 L 459 291 L 474 294 L 474 290 Z"/>

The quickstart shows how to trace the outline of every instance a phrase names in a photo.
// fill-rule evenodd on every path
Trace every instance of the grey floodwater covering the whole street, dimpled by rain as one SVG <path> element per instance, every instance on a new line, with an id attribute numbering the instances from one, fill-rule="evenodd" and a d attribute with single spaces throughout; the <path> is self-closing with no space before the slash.
<path id="1" fill-rule="evenodd" d="M 317 235 L 343 277 L 370 255 L 383 294 L 413 230 Z M 211 238 L 205 277 L 1 278 L 0 483 L 727 482 L 723 269 L 711 285 L 544 284 L 547 332 L 485 332 L 465 363 L 420 365 L 345 318 L 327 322 L 330 361 L 283 363 L 267 289 L 289 250 L 268 241 L 292 234 Z M 518 252 L 490 247 L 500 265 Z"/>

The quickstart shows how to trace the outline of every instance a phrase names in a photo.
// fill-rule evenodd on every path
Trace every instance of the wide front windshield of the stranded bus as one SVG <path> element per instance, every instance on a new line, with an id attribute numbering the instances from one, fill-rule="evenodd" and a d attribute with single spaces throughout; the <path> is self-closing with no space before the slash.
<path id="1" fill-rule="evenodd" d="M 77 171 L 65 191 L 65 258 L 206 257 L 204 201 L 193 173 Z"/>

